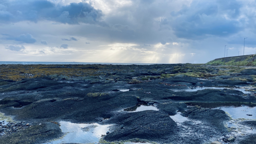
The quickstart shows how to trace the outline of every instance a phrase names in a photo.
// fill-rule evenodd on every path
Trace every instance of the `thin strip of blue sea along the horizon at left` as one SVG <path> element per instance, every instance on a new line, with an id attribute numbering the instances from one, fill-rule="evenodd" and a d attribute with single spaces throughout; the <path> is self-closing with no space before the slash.
<path id="1" fill-rule="evenodd" d="M 103 63 L 103 62 L 0 62 L 0 64 L 112 64 L 112 65 L 150 65 L 154 63 Z"/>

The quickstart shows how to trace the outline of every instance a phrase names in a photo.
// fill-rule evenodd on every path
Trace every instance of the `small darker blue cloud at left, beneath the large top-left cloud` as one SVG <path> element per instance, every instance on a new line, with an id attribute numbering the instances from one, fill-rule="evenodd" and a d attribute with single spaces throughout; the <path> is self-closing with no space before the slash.
<path id="1" fill-rule="evenodd" d="M 16 37 L 15 36 L 7 36 L 5 39 L 6 40 L 15 40 L 15 41 L 27 43 L 27 44 L 33 44 L 36 42 L 36 39 L 34 39 L 31 34 L 22 34 L 22 35 L 16 36 Z"/>

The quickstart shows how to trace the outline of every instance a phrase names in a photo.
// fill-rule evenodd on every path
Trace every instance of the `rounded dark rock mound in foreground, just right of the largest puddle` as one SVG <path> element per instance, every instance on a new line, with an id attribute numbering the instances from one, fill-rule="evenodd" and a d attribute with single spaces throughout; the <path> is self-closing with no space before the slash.
<path id="1" fill-rule="evenodd" d="M 154 142 L 170 142 L 175 139 L 177 124 L 168 115 L 147 110 L 131 112 L 118 117 L 117 128 L 104 137 L 104 140 L 146 139 Z M 124 128 L 120 129 L 120 125 Z"/>

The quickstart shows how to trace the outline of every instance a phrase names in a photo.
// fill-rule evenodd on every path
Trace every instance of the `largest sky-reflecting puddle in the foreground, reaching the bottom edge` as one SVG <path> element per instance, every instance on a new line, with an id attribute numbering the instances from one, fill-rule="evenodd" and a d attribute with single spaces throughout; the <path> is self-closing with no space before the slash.
<path id="1" fill-rule="evenodd" d="M 71 122 L 60 122 L 62 132 L 67 133 L 62 139 L 45 144 L 61 143 L 94 143 L 98 142 L 102 135 L 106 134 L 111 125 L 100 124 L 75 124 Z"/>

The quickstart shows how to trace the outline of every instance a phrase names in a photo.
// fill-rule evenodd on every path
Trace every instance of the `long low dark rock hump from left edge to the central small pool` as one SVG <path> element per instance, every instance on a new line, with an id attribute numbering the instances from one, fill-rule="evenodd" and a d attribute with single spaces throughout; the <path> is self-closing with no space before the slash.
<path id="1" fill-rule="evenodd" d="M 120 93 L 119 93 L 120 94 Z M 111 112 L 135 106 L 138 101 L 131 95 L 106 95 L 83 98 L 45 98 L 33 102 L 21 109 L 5 108 L 2 112 L 16 115 L 18 119 L 50 118 L 65 119 L 73 122 L 100 121 L 111 116 Z"/>

